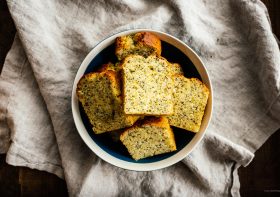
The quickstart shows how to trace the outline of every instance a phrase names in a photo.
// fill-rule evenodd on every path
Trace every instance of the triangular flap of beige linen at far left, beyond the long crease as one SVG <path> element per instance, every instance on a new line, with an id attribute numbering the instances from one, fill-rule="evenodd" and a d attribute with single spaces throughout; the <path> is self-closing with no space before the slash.
<path id="1" fill-rule="evenodd" d="M 1 119 L 10 131 L 7 163 L 63 178 L 52 123 L 17 35 L 5 60 L 0 87 Z"/>

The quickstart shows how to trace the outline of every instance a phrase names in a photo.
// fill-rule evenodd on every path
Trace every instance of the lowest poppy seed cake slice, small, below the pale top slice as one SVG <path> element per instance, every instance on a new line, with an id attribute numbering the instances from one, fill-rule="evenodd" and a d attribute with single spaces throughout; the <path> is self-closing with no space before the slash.
<path id="1" fill-rule="evenodd" d="M 175 151 L 173 131 L 166 117 L 149 117 L 127 128 L 120 136 L 133 159 Z"/>

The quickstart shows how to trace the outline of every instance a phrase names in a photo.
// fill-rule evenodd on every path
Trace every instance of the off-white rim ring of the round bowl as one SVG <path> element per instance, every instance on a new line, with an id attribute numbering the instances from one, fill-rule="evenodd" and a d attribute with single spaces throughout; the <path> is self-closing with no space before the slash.
<path id="1" fill-rule="evenodd" d="M 203 120 L 203 125 L 201 125 L 201 130 L 198 133 L 196 133 L 195 136 L 192 138 L 192 140 L 183 149 L 178 151 L 176 154 L 174 154 L 166 159 L 156 161 L 156 162 L 151 162 L 151 163 L 133 163 L 133 162 L 125 161 L 122 159 L 118 159 L 118 158 L 110 155 L 109 153 L 107 153 L 102 148 L 100 148 L 90 137 L 88 131 L 86 130 L 86 128 L 83 124 L 83 121 L 80 116 L 79 102 L 78 102 L 78 99 L 76 96 L 77 83 L 79 82 L 80 78 L 84 75 L 84 72 L 87 69 L 90 62 L 92 61 L 92 59 L 100 51 L 102 51 L 104 48 L 108 47 L 111 44 L 112 40 L 114 41 L 116 37 L 133 34 L 136 32 L 151 32 L 151 33 L 158 35 L 160 38 L 166 37 L 166 38 L 175 40 L 177 42 L 177 44 L 180 44 L 181 46 L 183 46 L 188 53 L 193 55 L 192 57 L 188 56 L 188 58 L 192 62 L 196 61 L 199 64 L 199 65 L 197 65 L 193 62 L 194 66 L 198 70 L 203 82 L 206 83 L 207 87 L 210 90 L 209 99 L 208 99 L 208 103 L 207 103 L 207 111 L 208 111 L 207 120 Z M 164 40 L 164 41 L 166 41 L 166 40 Z M 183 53 L 185 53 L 185 52 L 183 52 Z M 199 66 L 199 68 L 198 68 L 198 66 Z M 211 80 L 209 78 L 209 75 L 205 68 L 204 63 L 202 62 L 200 57 L 196 54 L 196 52 L 193 51 L 187 44 L 185 44 L 178 38 L 176 38 L 170 34 L 167 34 L 165 32 L 162 32 L 162 31 L 157 31 L 157 30 L 153 30 L 153 29 L 142 29 L 142 28 L 141 29 L 130 29 L 130 30 L 121 31 L 119 33 L 115 33 L 115 34 L 103 39 L 85 57 L 85 59 L 83 60 L 83 62 L 81 63 L 81 65 L 78 69 L 78 72 L 77 72 L 75 80 L 74 80 L 74 84 L 73 84 L 73 88 L 72 88 L 71 108 L 72 108 L 73 119 L 74 119 L 74 122 L 75 122 L 79 135 L 81 136 L 82 140 L 86 143 L 86 145 L 97 156 L 99 156 L 104 161 L 106 161 L 114 166 L 123 168 L 123 169 L 134 170 L 134 171 L 152 171 L 152 170 L 166 168 L 168 166 L 171 166 L 171 165 L 181 161 L 186 156 L 188 156 L 193 151 L 193 149 L 199 144 L 199 142 L 202 140 L 202 138 L 204 137 L 204 135 L 207 131 L 207 127 L 210 123 L 211 116 L 212 116 L 213 89 L 212 89 L 212 85 L 211 85 Z M 205 116 L 203 119 L 205 119 Z"/>

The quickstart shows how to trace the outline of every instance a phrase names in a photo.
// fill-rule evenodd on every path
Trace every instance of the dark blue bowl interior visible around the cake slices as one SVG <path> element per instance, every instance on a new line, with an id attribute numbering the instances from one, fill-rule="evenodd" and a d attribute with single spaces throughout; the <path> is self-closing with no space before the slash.
<path id="1" fill-rule="evenodd" d="M 112 63 L 117 62 L 117 59 L 114 55 L 114 50 L 114 44 L 111 44 L 104 48 L 91 60 L 84 74 L 96 71 L 102 64 L 108 63 L 109 61 Z M 179 49 L 164 41 L 162 41 L 162 56 L 165 57 L 169 62 L 179 63 L 182 66 L 184 75 L 186 77 L 196 77 L 201 79 L 201 76 L 199 75 L 192 61 Z M 135 161 L 131 158 L 126 148 L 120 142 L 113 141 L 107 133 L 98 135 L 94 134 L 91 128 L 91 124 L 89 123 L 89 120 L 81 104 L 79 105 L 79 110 L 83 124 L 85 125 L 85 128 L 92 140 L 111 156 L 127 162 L 152 163 L 164 160 L 182 150 L 195 136 L 193 132 L 188 132 L 172 127 L 175 135 L 177 151 Z"/>

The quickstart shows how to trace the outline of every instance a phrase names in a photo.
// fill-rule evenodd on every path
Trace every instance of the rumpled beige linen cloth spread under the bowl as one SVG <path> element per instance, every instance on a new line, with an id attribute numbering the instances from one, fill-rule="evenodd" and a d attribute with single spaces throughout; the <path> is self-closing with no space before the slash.
<path id="1" fill-rule="evenodd" d="M 0 79 L 7 163 L 64 178 L 70 196 L 239 196 L 237 168 L 280 127 L 280 53 L 258 0 L 8 0 L 17 28 Z M 213 83 L 207 135 L 182 162 L 134 172 L 99 159 L 71 115 L 75 74 L 102 39 L 167 32 L 203 59 Z"/>

